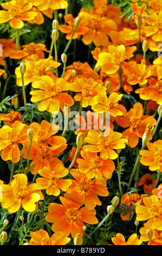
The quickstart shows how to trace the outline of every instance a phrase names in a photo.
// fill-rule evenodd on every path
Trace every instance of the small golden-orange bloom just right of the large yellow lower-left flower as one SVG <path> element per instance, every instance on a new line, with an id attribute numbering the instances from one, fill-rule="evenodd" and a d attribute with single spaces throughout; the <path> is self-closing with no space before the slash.
<path id="1" fill-rule="evenodd" d="M 46 190 L 47 194 L 53 194 L 55 197 L 59 196 L 60 189 L 67 191 L 69 186 L 72 184 L 70 179 L 61 179 L 68 175 L 69 170 L 64 168 L 61 163 L 56 164 L 53 170 L 44 167 L 38 170 L 43 178 L 37 178 L 36 183 L 40 185 L 42 190 Z"/>

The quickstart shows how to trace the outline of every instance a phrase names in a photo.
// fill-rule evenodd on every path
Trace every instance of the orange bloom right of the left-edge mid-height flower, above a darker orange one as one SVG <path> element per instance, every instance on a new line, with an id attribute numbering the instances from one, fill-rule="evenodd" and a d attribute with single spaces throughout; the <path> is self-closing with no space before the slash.
<path id="1" fill-rule="evenodd" d="M 30 124 L 33 131 L 33 141 L 44 145 L 65 144 L 66 139 L 62 136 L 53 136 L 59 131 L 59 125 L 52 125 L 46 120 L 42 120 L 41 124 L 33 122 Z"/>

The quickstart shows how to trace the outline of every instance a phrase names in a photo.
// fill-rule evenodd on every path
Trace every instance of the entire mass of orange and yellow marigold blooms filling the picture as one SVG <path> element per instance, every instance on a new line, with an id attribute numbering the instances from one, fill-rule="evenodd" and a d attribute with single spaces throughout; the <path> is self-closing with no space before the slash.
<path id="1" fill-rule="evenodd" d="M 50 203 L 48 207 L 46 221 L 52 223 L 54 234 L 49 237 L 46 230 L 37 230 L 30 233 L 31 240 L 25 244 L 66 245 L 71 235 L 74 244 L 81 245 L 86 223 L 99 224 L 95 216 L 96 205 L 101 205 L 98 196 L 108 196 L 107 179 L 112 178 L 114 160 L 122 149 L 135 148 L 141 141 L 140 163 L 151 171 L 157 170 L 158 175 L 162 172 L 162 141 L 150 142 L 162 116 L 162 59 L 157 56 L 153 63 L 146 60 L 148 49 L 159 51 L 162 2 L 147 0 L 148 10 L 145 3 L 138 6 L 137 1 L 131 2 L 134 14 L 127 22 L 120 17 L 120 8 L 115 8 L 114 4 L 107 5 L 105 0 L 94 0 L 94 8 L 82 8 L 77 17 L 66 13 L 65 22 L 61 25 L 56 19 L 53 21 L 54 45 L 61 32 L 66 34 L 69 42 L 70 39 L 81 38 L 83 44 L 95 46 L 92 51 L 96 60 L 94 68 L 87 62 L 77 60 L 66 66 L 67 58 L 63 53 L 61 57 L 66 68 L 62 75 L 54 74 L 53 70 L 57 70 L 62 63 L 53 58 L 46 45 L 31 42 L 17 48 L 15 39 L 0 40 L 3 46 L 0 75 L 5 74 L 5 58 L 21 59 L 21 65 L 15 69 L 16 84 L 23 90 L 25 86 L 31 86 L 31 102 L 38 102 L 38 111 L 53 114 L 61 110 L 64 113 L 65 107 L 68 107 L 70 112 L 70 107 L 80 101 L 75 120 L 80 129 L 72 133 L 76 135 L 77 147 L 70 151 L 68 161 L 72 164 L 68 168 L 58 157 L 68 146 L 64 136 L 57 136 L 58 125 L 46 120 L 42 120 L 41 124 L 29 124 L 27 119 L 21 121 L 21 113 L 14 110 L 0 114 L 4 122 L 0 129 L 1 157 L 3 161 L 12 162 L 10 183 L 0 180 L 2 208 L 13 214 L 23 209 L 34 215 L 44 199 L 42 190 L 54 197 L 64 192 L 59 197 L 60 203 Z M 10 22 L 12 28 L 21 29 L 24 21 L 41 25 L 43 15 L 52 21 L 54 11 L 67 10 L 68 1 L 11 0 L 1 3 L 1 7 L 0 23 Z M 139 46 L 143 55 L 136 52 Z M 47 53 L 49 56 L 45 58 Z M 121 90 L 127 95 L 135 93 L 139 101 L 145 101 L 145 108 L 142 103 L 136 102 L 127 111 L 121 103 Z M 74 99 L 72 93 L 76 93 Z M 81 110 L 88 106 L 95 114 L 88 111 L 84 119 L 80 115 Z M 155 115 L 151 115 L 151 111 Z M 102 136 L 102 129 L 95 129 L 105 124 L 104 118 L 95 118 L 101 112 L 109 112 L 111 121 L 110 129 L 105 129 Z M 89 129 L 88 120 L 91 119 L 92 127 Z M 114 123 L 123 129 L 122 133 L 115 131 Z M 14 165 L 22 159 L 27 160 L 27 166 L 23 168 L 23 173 L 14 175 Z M 29 171 L 34 175 L 33 183 L 28 183 Z M 150 178 L 150 175 L 146 173 L 137 182 L 136 187 L 143 186 L 145 194 L 120 195 L 120 205 L 128 205 L 137 215 L 136 225 L 140 221 L 145 222 L 139 230 L 140 235 L 132 234 L 125 241 L 125 234 L 118 233 L 112 238 L 113 245 L 141 245 L 147 241 L 148 245 L 162 245 L 160 186 L 154 186 L 157 186 L 158 178 Z M 67 179 L 67 176 L 71 178 Z M 118 203 L 119 197 L 114 197 L 112 205 L 107 208 L 108 215 Z M 130 214 L 121 214 L 120 217 L 126 221 Z M 5 220 L 4 227 L 7 224 Z M 5 231 L 0 237 L 2 243 L 7 241 Z"/>

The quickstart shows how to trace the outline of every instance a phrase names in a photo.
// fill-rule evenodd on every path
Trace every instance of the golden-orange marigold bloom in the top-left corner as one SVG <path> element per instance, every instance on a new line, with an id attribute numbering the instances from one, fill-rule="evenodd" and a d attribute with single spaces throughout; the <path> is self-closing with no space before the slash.
<path id="1" fill-rule="evenodd" d="M 7 9 L 7 11 L 0 11 L 0 23 L 10 21 L 12 28 L 22 28 L 24 26 L 23 21 L 33 20 L 37 15 L 35 11 L 30 11 L 33 4 L 28 1 L 12 0 L 7 3 L 2 3 L 1 5 L 4 9 Z"/>

